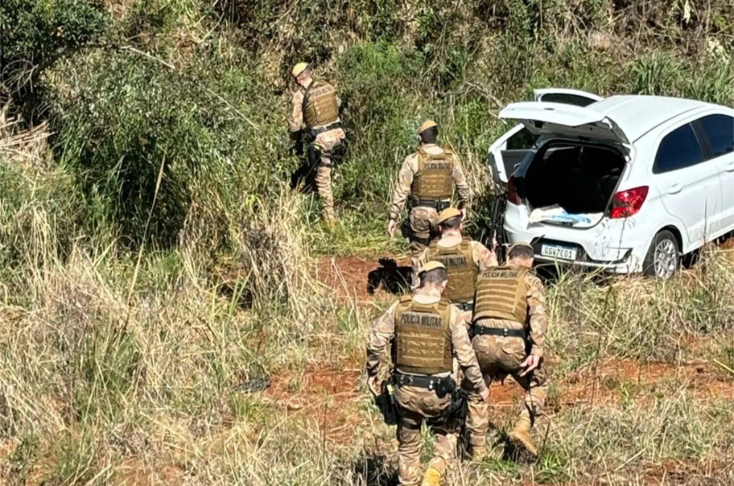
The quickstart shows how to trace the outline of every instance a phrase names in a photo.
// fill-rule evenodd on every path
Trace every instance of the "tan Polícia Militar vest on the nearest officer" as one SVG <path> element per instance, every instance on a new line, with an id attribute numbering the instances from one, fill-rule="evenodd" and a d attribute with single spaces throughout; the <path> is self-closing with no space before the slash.
<path id="1" fill-rule="evenodd" d="M 426 375 L 452 371 L 450 319 L 448 300 L 420 304 L 410 295 L 401 297 L 395 310 L 396 369 Z"/>

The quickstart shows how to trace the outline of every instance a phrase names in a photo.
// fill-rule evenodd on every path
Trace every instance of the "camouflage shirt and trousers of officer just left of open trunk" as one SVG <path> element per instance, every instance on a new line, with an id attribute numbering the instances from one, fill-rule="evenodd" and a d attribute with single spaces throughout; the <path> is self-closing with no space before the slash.
<path id="1" fill-rule="evenodd" d="M 443 153 L 443 148 L 433 143 L 423 145 L 424 150 L 430 154 Z M 418 152 L 412 153 L 407 156 L 403 161 L 403 165 L 398 173 L 398 180 L 393 189 L 393 194 L 390 203 L 390 220 L 397 221 L 400 217 L 405 201 L 408 195 L 410 195 L 410 186 L 413 184 L 413 176 L 418 172 Z M 454 154 L 454 173 L 452 174 L 454 179 L 454 186 L 456 186 L 457 193 L 459 195 L 459 209 L 464 208 L 469 202 L 470 189 L 469 184 L 466 182 L 466 176 L 462 169 L 461 163 L 458 157 Z M 409 238 L 410 240 L 410 261 L 413 262 L 413 268 L 418 269 L 417 265 L 418 256 L 425 250 L 426 244 L 418 241 L 419 239 L 431 239 L 432 233 L 436 231 L 436 220 L 438 219 L 438 213 L 435 208 L 426 207 L 415 207 L 408 214 L 408 222 L 410 224 L 410 233 L 414 236 Z M 415 276 L 415 272 L 413 274 Z M 414 282 L 415 285 L 416 282 Z"/>

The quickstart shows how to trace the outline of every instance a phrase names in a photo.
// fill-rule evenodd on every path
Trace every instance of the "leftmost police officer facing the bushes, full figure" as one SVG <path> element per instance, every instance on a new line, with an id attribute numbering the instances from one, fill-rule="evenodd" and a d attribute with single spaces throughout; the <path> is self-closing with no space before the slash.
<path id="1" fill-rule="evenodd" d="M 321 197 L 321 216 L 333 226 L 336 217 L 331 192 L 332 150 L 346 137 L 339 120 L 341 102 L 331 84 L 313 79 L 311 68 L 305 62 L 295 65 L 292 74 L 299 88 L 293 93 L 288 128 L 294 136 L 303 134 L 308 142 L 308 179 L 314 179 Z"/>

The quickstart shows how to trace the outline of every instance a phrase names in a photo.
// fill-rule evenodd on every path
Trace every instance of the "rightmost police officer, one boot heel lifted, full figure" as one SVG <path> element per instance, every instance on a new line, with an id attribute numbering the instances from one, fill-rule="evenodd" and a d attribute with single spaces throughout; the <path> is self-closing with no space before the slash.
<path id="1" fill-rule="evenodd" d="M 543 341 L 548 328 L 545 292 L 531 270 L 533 248 L 526 243 L 509 248 L 506 266 L 484 270 L 476 283 L 471 333 L 476 358 L 487 386 L 511 374 L 525 389 L 525 399 L 509 439 L 537 455 L 530 431 L 548 395 L 543 366 Z M 486 455 L 489 416 L 483 397 L 469 391 L 466 428 L 473 457 Z"/>

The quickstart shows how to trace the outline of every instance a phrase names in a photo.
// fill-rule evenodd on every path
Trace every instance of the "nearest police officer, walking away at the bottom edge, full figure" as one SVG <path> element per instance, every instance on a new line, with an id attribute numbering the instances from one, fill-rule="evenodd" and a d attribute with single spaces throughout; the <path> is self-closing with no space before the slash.
<path id="1" fill-rule="evenodd" d="M 371 326 L 367 344 L 367 384 L 380 393 L 377 372 L 380 356 L 392 344 L 395 399 L 398 412 L 398 477 L 400 485 L 437 486 L 454 458 L 456 421 L 440 421 L 451 405 L 452 361 L 464 368 L 465 382 L 476 386 L 475 400 L 489 395 L 476 363 L 466 325 L 459 311 L 441 298 L 446 268 L 432 261 L 420 272 L 415 294 L 402 297 Z M 465 388 L 470 388 L 465 385 Z M 434 457 L 421 482 L 421 426 L 436 435 Z"/>

